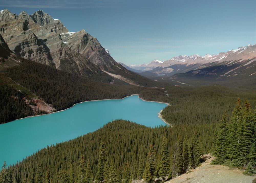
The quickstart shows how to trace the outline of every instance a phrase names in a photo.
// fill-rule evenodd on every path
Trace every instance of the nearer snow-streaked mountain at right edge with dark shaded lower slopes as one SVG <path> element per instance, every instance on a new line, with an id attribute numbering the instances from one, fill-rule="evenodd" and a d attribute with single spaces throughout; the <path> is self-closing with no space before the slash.
<path id="1" fill-rule="evenodd" d="M 204 65 L 199 65 L 194 70 L 175 74 L 169 79 L 187 81 L 190 84 L 203 81 L 233 87 L 240 85 L 255 88 L 256 86 L 256 44 L 219 53 L 208 57 L 205 62 Z"/>

